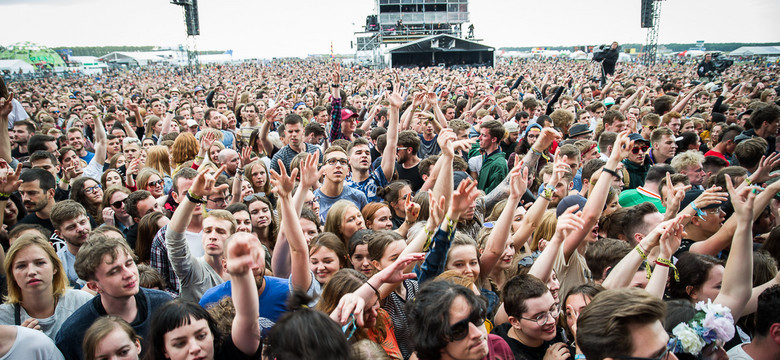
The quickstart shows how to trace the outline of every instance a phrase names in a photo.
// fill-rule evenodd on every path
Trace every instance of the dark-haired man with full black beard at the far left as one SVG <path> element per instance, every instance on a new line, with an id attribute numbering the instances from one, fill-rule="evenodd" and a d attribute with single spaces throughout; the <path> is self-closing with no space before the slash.
<path id="1" fill-rule="evenodd" d="M 28 215 L 17 224 L 38 224 L 54 232 L 50 220 L 55 203 L 54 175 L 46 170 L 33 168 L 22 173 L 19 179 L 22 180 L 19 194 L 22 195 L 22 203 Z"/>

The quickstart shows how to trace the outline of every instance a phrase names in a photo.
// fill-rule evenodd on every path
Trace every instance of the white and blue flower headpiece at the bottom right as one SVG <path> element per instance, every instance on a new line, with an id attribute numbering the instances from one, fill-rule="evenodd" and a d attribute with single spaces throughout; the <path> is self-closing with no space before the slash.
<path id="1" fill-rule="evenodd" d="M 676 353 L 699 355 L 701 350 L 718 340 L 727 342 L 734 337 L 734 317 L 731 310 L 720 304 L 700 301 L 696 304 L 696 315 L 687 323 L 680 323 L 672 329 L 679 340 Z"/>

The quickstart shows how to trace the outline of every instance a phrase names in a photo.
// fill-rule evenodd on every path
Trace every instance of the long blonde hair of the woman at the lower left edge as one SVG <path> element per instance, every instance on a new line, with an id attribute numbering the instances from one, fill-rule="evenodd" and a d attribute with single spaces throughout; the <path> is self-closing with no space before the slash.
<path id="1" fill-rule="evenodd" d="M 19 284 L 16 283 L 16 278 L 13 276 L 13 266 L 16 255 L 19 251 L 22 251 L 30 246 L 38 246 L 43 249 L 43 252 L 49 257 L 51 261 L 52 270 L 54 272 L 52 276 L 52 295 L 54 298 L 59 298 L 65 295 L 65 291 L 68 290 L 68 277 L 65 274 L 65 267 L 62 266 L 62 261 L 57 257 L 54 252 L 54 247 L 41 234 L 27 233 L 20 236 L 11 247 L 8 249 L 8 254 L 5 258 L 5 273 L 8 276 L 8 295 L 5 297 L 5 302 L 8 304 L 18 304 L 22 302 L 22 289 Z"/>

